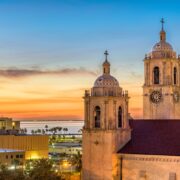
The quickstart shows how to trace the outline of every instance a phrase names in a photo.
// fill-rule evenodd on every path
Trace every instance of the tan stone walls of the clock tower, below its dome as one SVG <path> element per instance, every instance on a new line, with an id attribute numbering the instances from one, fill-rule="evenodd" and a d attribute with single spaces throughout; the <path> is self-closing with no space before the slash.
<path id="1" fill-rule="evenodd" d="M 160 70 L 160 84 L 153 84 L 153 69 Z M 173 82 L 173 69 L 177 68 L 177 84 Z M 178 59 L 146 59 L 144 61 L 143 118 L 144 119 L 180 119 L 180 99 L 174 101 L 174 93 L 180 95 L 180 63 Z M 152 103 L 150 94 L 158 90 L 162 93 L 159 103 Z"/>

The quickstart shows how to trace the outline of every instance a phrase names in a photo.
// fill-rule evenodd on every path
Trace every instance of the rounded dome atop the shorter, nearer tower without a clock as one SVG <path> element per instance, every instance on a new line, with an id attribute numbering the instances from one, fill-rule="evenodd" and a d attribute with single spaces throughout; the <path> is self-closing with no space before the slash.
<path id="1" fill-rule="evenodd" d="M 110 74 L 103 74 L 96 79 L 94 87 L 119 87 L 119 82 Z"/>

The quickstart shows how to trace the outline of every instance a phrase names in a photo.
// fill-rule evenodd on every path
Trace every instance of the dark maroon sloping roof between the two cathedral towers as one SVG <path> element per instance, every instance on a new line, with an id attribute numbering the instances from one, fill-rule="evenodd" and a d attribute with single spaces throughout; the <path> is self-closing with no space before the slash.
<path id="1" fill-rule="evenodd" d="M 131 120 L 132 139 L 118 153 L 180 156 L 180 120 Z"/>

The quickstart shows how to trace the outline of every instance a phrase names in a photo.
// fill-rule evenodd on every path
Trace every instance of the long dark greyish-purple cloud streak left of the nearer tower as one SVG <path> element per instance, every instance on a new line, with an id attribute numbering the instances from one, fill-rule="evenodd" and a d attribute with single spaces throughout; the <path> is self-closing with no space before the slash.
<path id="1" fill-rule="evenodd" d="M 37 68 L 31 69 L 19 69 L 19 68 L 8 68 L 0 69 L 0 76 L 7 78 L 21 78 L 27 76 L 37 75 L 91 75 L 96 76 L 97 74 L 93 71 L 81 68 L 62 68 L 56 70 L 42 70 Z"/>

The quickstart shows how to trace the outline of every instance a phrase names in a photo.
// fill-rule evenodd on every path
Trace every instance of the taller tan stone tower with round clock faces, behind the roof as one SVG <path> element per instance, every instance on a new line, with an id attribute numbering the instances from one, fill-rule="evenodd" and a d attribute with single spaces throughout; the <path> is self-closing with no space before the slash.
<path id="1" fill-rule="evenodd" d="M 180 119 L 180 57 L 166 41 L 161 20 L 160 41 L 144 59 L 144 119 Z"/>

